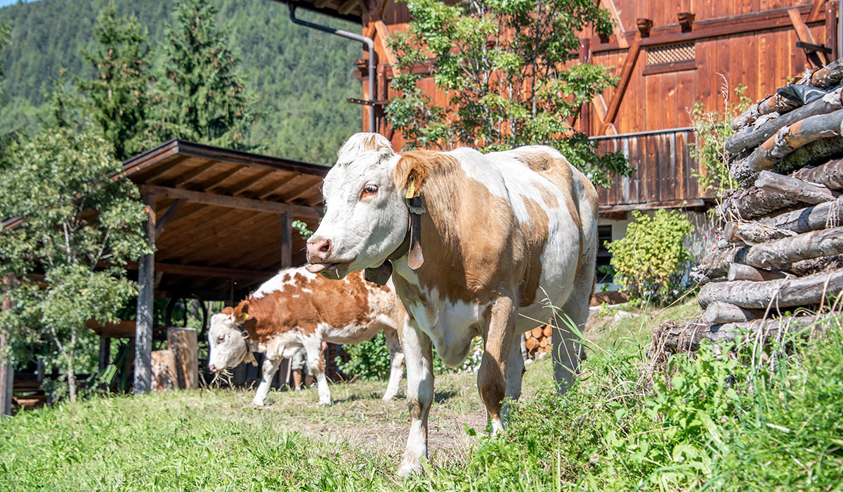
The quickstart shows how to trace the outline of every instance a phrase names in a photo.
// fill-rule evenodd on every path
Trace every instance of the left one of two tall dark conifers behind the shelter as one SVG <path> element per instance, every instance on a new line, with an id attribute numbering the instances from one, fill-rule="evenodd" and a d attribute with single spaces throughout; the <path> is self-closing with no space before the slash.
<path id="1" fill-rule="evenodd" d="M 146 137 L 148 86 L 153 78 L 144 31 L 136 18 L 119 17 L 113 5 L 105 8 L 94 25 L 99 47 L 82 51 L 95 78 L 77 78 L 78 89 L 87 96 L 90 116 L 121 160 L 142 151 Z"/>

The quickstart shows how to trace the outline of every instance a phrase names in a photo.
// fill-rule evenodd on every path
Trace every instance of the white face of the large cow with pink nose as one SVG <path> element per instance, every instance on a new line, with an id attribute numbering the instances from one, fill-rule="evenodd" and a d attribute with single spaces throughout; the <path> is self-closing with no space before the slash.
<path id="1" fill-rule="evenodd" d="M 398 249 L 409 211 L 393 171 L 400 156 L 377 133 L 357 133 L 325 176 L 325 218 L 308 240 L 308 270 L 327 278 L 377 267 Z"/>

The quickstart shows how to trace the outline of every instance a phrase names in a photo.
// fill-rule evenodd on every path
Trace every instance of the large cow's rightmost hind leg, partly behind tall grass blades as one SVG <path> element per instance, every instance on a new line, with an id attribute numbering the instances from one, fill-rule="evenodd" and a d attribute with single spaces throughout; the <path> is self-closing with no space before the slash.
<path id="1" fill-rule="evenodd" d="M 585 260 L 584 265 L 594 264 L 593 253 Z M 590 263 L 588 263 L 590 261 Z M 565 393 L 571 387 L 574 377 L 577 376 L 580 360 L 583 358 L 583 344 L 572 327 L 577 328 L 578 333 L 584 333 L 588 323 L 588 301 L 591 300 L 591 293 L 594 289 L 593 268 L 583 268 L 577 273 L 574 281 L 571 296 L 565 305 L 561 306 L 561 312 L 555 316 L 555 327 L 553 328 L 553 376 L 556 380 L 556 391 Z"/>

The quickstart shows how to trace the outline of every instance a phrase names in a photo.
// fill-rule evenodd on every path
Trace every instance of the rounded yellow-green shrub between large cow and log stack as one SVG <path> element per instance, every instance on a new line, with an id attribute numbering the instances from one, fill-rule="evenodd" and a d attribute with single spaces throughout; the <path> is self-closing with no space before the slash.
<path id="1" fill-rule="evenodd" d="M 674 300 L 692 259 L 682 240 L 694 226 L 676 210 L 659 209 L 652 217 L 634 210 L 632 217 L 626 237 L 608 244 L 615 283 L 634 299 Z"/>

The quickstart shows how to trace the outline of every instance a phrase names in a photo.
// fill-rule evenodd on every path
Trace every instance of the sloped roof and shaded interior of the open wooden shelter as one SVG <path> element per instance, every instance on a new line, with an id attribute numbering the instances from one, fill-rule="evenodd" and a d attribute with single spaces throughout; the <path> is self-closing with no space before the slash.
<path id="1" fill-rule="evenodd" d="M 328 169 L 178 139 L 126 160 L 154 210 L 156 296 L 228 300 L 305 262 L 291 223 L 315 228 Z"/>

